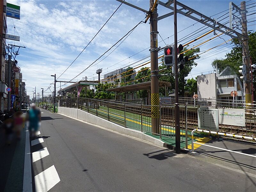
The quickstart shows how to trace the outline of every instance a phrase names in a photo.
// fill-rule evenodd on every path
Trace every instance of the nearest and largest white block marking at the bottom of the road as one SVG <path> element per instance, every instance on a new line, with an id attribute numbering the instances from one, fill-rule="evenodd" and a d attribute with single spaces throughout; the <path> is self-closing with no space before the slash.
<path id="1" fill-rule="evenodd" d="M 59 182 L 60 177 L 55 169 L 55 166 L 52 165 L 35 176 L 35 191 L 49 191 Z"/>

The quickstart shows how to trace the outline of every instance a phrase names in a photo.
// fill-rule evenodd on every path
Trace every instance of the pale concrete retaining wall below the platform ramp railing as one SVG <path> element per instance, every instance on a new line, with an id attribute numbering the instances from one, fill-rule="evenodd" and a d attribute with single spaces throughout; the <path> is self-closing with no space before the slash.
<path id="1" fill-rule="evenodd" d="M 82 120 L 82 121 L 90 123 L 90 124 L 95 124 L 97 126 L 100 126 L 100 127 L 103 127 L 103 128 L 115 131 L 115 132 L 129 135 L 129 136 L 135 137 L 137 139 L 145 140 L 145 141 L 155 144 L 157 146 L 161 146 L 161 147 L 164 146 L 164 142 L 161 140 L 153 138 L 153 137 L 151 137 L 145 133 L 142 133 L 140 131 L 122 127 L 122 126 L 112 123 L 106 119 L 102 119 L 98 116 L 87 113 L 81 109 L 58 107 L 58 113 Z"/>

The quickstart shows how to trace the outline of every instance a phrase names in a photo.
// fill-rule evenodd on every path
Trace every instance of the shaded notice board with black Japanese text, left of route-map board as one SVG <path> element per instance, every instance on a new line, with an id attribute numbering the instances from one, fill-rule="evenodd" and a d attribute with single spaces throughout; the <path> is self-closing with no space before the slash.
<path id="1" fill-rule="evenodd" d="M 198 128 L 219 131 L 218 109 L 198 108 Z"/>

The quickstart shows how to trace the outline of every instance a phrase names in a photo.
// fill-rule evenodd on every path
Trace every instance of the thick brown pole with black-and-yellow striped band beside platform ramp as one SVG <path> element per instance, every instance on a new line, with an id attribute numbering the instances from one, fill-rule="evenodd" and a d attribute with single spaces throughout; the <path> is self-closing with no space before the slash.
<path id="1" fill-rule="evenodd" d="M 159 80 L 158 80 L 158 42 L 157 42 L 157 4 L 149 0 L 150 15 L 150 64 L 151 64 L 151 119 L 152 132 L 159 134 Z"/>

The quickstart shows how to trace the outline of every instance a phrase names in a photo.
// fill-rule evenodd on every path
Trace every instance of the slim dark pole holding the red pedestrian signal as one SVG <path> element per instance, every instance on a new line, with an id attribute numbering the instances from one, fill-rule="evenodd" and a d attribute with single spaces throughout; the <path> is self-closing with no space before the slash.
<path id="1" fill-rule="evenodd" d="M 178 52 L 177 52 L 177 1 L 173 1 L 174 17 L 174 66 L 175 66 L 175 149 L 180 153 L 180 106 L 179 106 L 179 82 L 178 82 Z"/>

